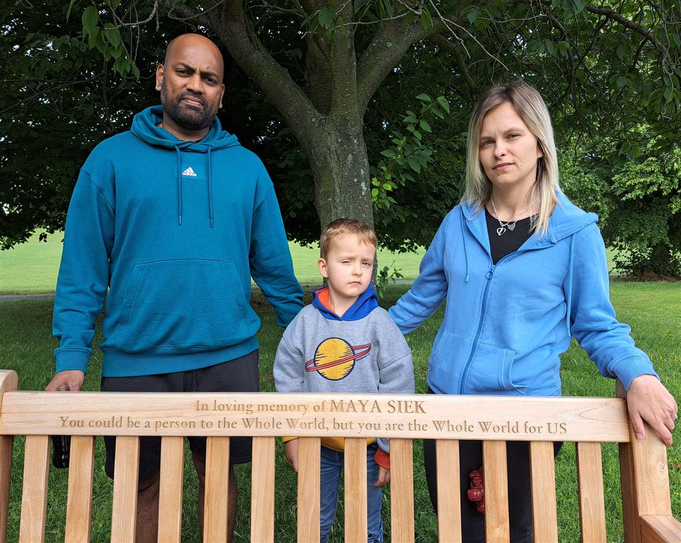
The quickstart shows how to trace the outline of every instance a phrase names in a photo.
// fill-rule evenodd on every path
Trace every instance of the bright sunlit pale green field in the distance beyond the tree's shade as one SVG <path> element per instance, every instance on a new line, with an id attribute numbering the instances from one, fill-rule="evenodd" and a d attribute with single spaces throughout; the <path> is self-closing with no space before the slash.
<path id="1" fill-rule="evenodd" d="M 57 232 L 48 236 L 47 242 L 39 242 L 36 234 L 25 244 L 0 251 L 0 295 L 53 293 L 57 286 L 63 237 L 63 232 Z M 319 284 L 319 248 L 301 247 L 294 242 L 289 242 L 289 248 L 298 281 L 303 284 Z M 405 279 L 415 279 L 419 274 L 419 263 L 424 252 L 423 248 L 417 252 L 402 254 L 380 250 L 379 267 L 392 265 L 394 262 Z M 612 268 L 610 251 L 608 266 Z"/>

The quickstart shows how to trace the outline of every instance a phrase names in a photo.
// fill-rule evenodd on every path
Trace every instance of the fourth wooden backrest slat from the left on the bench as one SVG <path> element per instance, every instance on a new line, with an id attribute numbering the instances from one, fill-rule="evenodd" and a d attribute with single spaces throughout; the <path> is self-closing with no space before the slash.
<path id="1" fill-rule="evenodd" d="M 159 542 L 175 543 L 182 535 L 182 484 L 185 472 L 185 438 L 161 438 L 159 488 Z"/>

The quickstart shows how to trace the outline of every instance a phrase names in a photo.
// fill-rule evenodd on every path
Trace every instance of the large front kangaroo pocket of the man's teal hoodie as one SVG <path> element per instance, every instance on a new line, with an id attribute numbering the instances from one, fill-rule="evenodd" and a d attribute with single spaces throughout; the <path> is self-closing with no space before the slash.
<path id="1" fill-rule="evenodd" d="M 177 259 L 138 264 L 130 276 L 112 348 L 187 352 L 249 338 L 248 304 L 233 262 Z"/>

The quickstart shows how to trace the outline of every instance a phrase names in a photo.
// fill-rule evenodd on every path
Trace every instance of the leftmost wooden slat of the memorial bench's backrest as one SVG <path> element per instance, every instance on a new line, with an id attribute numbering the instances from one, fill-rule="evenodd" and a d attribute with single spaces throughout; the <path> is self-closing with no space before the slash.
<path id="1" fill-rule="evenodd" d="M 24 488 L 21 495 L 19 541 L 42 543 L 45 541 L 50 436 L 27 435 L 24 455 Z"/>

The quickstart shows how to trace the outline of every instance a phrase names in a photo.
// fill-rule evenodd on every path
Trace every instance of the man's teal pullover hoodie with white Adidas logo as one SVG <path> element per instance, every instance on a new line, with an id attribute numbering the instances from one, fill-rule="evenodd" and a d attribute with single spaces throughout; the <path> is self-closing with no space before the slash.
<path id="1" fill-rule="evenodd" d="M 54 299 L 58 372 L 86 371 L 105 297 L 103 376 L 197 369 L 255 350 L 251 276 L 280 326 L 303 307 L 262 162 L 217 118 L 200 142 L 177 139 L 162 120 L 160 106 L 140 112 L 80 170 Z"/>

